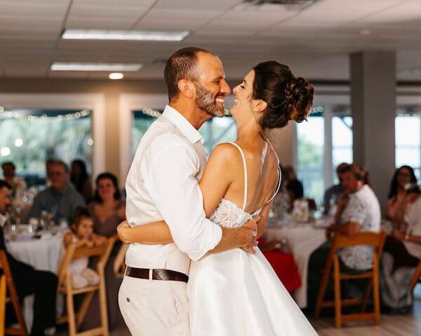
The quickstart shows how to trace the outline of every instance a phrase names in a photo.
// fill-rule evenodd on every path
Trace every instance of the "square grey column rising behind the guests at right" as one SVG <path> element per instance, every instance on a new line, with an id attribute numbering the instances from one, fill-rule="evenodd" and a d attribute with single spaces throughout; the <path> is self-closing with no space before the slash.
<path id="1" fill-rule="evenodd" d="M 385 209 L 395 168 L 396 53 L 350 56 L 354 162 L 370 172 L 370 184 Z"/>

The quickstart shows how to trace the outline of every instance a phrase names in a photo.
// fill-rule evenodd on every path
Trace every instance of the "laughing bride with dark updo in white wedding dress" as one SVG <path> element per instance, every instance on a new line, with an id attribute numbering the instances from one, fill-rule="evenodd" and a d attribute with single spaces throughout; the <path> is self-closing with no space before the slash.
<path id="1" fill-rule="evenodd" d="M 267 132 L 289 120 L 305 120 L 314 88 L 295 78 L 288 66 L 262 62 L 233 90 L 229 110 L 237 126 L 234 143 L 215 147 L 200 181 L 206 216 L 227 228 L 238 228 L 259 215 L 264 230 L 281 182 L 279 159 Z M 168 244 L 165 222 L 119 228 L 125 242 Z M 279 281 L 259 248 L 208 253 L 189 271 L 189 323 L 192 336 L 317 335 Z"/>

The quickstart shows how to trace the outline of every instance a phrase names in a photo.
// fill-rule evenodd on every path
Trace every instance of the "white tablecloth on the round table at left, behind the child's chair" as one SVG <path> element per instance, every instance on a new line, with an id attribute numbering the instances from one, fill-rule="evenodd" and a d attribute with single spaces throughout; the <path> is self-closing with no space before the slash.
<path id="1" fill-rule="evenodd" d="M 40 239 L 8 241 L 6 242 L 6 248 L 16 259 L 31 265 L 35 269 L 57 274 L 62 244 L 62 233 L 58 233 L 54 236 L 44 235 Z M 22 312 L 29 331 L 34 319 L 33 309 L 34 295 L 28 295 L 23 302 Z"/>

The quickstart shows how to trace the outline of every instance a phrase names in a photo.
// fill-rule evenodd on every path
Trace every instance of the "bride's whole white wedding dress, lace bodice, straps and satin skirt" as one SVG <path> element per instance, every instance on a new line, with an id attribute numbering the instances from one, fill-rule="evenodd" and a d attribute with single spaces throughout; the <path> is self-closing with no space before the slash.
<path id="1" fill-rule="evenodd" d="M 243 158 L 243 207 L 222 199 L 210 220 L 225 228 L 239 228 L 262 209 L 254 214 L 244 211 L 246 160 L 241 148 L 231 144 Z M 192 262 L 187 295 L 191 336 L 317 335 L 259 248 L 254 255 L 236 248 Z"/>

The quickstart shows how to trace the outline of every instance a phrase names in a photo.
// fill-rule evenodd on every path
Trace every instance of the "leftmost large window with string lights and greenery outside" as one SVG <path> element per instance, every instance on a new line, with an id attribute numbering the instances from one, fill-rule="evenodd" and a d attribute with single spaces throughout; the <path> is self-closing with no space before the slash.
<path id="1" fill-rule="evenodd" d="M 0 160 L 15 163 L 29 186 L 45 178 L 45 162 L 74 159 L 91 172 L 91 111 L 10 109 L 0 113 Z"/>

